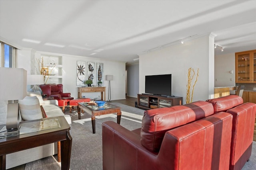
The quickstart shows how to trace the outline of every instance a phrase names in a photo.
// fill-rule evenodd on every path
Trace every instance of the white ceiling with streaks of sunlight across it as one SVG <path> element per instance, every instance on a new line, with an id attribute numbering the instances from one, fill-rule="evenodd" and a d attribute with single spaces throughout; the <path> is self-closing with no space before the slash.
<path id="1" fill-rule="evenodd" d="M 0 40 L 36 51 L 130 63 L 210 32 L 216 55 L 256 49 L 256 0 L 0 0 Z"/>

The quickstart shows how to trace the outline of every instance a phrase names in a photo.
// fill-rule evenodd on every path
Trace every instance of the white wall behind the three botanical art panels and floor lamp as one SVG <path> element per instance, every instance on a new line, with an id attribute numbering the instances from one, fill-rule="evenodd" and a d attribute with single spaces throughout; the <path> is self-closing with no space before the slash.
<path id="1" fill-rule="evenodd" d="M 78 87 L 76 86 L 76 62 L 90 61 L 95 63 L 104 63 L 104 84 L 106 86 L 106 100 L 108 99 L 108 81 L 105 80 L 105 75 L 113 75 L 111 81 L 111 100 L 125 99 L 125 62 L 108 61 L 95 59 L 92 57 L 82 57 L 73 55 L 64 55 L 57 53 L 48 53 L 36 51 L 35 54 L 31 50 L 18 50 L 18 67 L 25 70 L 33 70 L 37 64 L 31 64 L 32 57 L 38 57 L 41 54 L 62 56 L 62 84 L 63 92 L 70 92 L 74 98 L 78 97 Z M 28 64 L 29 63 L 29 64 Z M 96 98 L 100 93 L 84 93 L 83 96 L 88 98 Z"/>

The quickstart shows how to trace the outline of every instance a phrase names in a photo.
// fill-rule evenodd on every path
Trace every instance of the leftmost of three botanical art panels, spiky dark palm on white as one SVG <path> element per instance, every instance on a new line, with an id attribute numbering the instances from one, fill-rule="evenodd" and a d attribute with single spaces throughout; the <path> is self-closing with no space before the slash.
<path id="1" fill-rule="evenodd" d="M 86 71 L 86 62 L 76 61 L 76 86 L 85 86 Z"/>

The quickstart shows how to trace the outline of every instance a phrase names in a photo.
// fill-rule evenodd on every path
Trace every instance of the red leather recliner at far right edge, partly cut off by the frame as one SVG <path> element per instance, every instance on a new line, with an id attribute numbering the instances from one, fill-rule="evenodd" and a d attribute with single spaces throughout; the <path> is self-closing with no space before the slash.
<path id="1" fill-rule="evenodd" d="M 230 95 L 207 100 L 214 112 L 226 111 L 233 115 L 230 151 L 230 170 L 241 170 L 252 154 L 256 104 L 245 103 L 240 96 Z"/>

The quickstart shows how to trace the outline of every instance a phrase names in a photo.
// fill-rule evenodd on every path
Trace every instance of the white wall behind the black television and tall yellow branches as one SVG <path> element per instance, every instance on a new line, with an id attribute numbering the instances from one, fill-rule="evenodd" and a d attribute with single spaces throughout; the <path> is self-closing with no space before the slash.
<path id="1" fill-rule="evenodd" d="M 206 35 L 197 39 L 140 55 L 139 93 L 145 92 L 145 76 L 172 74 L 172 94 L 186 103 L 188 68 L 199 68 L 193 102 L 207 100 L 214 93 L 214 38 Z"/>

